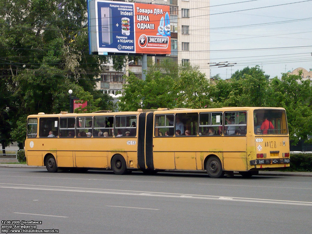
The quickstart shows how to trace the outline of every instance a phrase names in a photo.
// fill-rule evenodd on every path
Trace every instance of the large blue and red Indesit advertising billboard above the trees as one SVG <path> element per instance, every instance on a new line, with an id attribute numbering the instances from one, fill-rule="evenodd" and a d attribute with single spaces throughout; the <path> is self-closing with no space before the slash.
<path id="1" fill-rule="evenodd" d="M 88 0 L 90 54 L 170 54 L 168 5 Z"/>

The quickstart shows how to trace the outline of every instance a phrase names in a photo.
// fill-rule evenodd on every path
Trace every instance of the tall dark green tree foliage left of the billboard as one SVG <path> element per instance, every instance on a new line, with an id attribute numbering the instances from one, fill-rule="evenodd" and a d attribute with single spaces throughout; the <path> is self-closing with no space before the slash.
<path id="1" fill-rule="evenodd" d="M 95 88 L 107 58 L 89 55 L 85 16 L 84 0 L 0 2 L 0 136 L 6 145 L 24 141 L 27 115 L 68 110 L 69 89 L 90 103 L 88 111 L 113 108 L 111 97 Z"/>

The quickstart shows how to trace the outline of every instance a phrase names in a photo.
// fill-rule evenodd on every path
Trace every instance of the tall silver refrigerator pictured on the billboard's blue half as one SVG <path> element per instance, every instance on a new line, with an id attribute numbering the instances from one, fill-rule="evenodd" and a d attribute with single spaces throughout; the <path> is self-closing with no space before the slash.
<path id="1" fill-rule="evenodd" d="M 110 7 L 101 7 L 102 17 L 102 42 L 105 44 L 113 43 L 112 30 L 112 10 Z"/>

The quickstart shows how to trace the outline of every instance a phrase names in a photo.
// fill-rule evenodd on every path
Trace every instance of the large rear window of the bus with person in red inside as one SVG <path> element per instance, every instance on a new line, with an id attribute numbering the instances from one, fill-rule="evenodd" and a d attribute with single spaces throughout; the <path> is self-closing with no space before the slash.
<path id="1" fill-rule="evenodd" d="M 254 110 L 254 131 L 256 135 L 287 134 L 285 110 Z"/>

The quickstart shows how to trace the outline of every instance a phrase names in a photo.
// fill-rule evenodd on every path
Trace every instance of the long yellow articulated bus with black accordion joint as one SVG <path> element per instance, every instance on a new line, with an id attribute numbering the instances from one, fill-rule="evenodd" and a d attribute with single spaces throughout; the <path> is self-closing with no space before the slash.
<path id="1" fill-rule="evenodd" d="M 289 167 L 283 108 L 142 110 L 29 115 L 28 165 L 88 170 L 207 171 L 212 178 L 238 171 Z"/>

